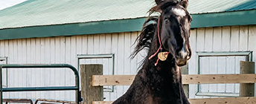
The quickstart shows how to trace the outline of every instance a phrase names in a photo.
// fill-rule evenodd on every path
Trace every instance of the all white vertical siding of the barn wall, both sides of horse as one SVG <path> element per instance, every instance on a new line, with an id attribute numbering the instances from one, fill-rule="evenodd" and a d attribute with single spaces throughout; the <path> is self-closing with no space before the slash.
<path id="1" fill-rule="evenodd" d="M 129 59 L 132 46 L 140 32 L 106 33 L 83 36 L 58 36 L 48 38 L 12 39 L 0 41 L 0 57 L 7 56 L 9 64 L 54 64 L 68 63 L 77 68 L 77 54 L 115 53 L 115 74 L 136 74 L 144 52 L 135 59 Z M 22 34 L 20 34 L 22 35 Z M 189 74 L 198 74 L 196 51 L 256 51 L 256 26 L 207 27 L 191 30 L 191 48 L 193 56 L 189 62 Z M 255 61 L 255 52 L 253 53 Z M 206 62 L 225 64 L 228 59 L 205 58 Z M 86 59 L 84 63 L 112 63 L 108 59 Z M 238 60 L 236 62 L 239 62 Z M 234 64 L 231 62 L 230 64 Z M 205 68 L 217 69 L 213 64 Z M 228 69 L 228 68 L 227 68 Z M 217 72 L 220 71 L 220 72 Z M 222 70 L 209 70 L 209 74 L 225 73 Z M 231 71 L 227 73 L 233 73 Z M 104 74 L 109 74 L 107 71 Z M 206 73 L 206 72 L 204 72 Z M 56 70 L 8 70 L 9 87 L 74 85 L 72 71 Z M 106 100 L 115 100 L 127 91 L 129 86 L 115 86 L 114 92 L 104 94 Z M 209 85 L 211 91 L 217 91 L 217 85 Z M 220 85 L 221 88 L 221 85 Z M 202 89 L 203 90 L 203 89 Z M 207 89 L 205 89 L 207 90 Z M 220 89 L 222 90 L 222 89 Z M 196 97 L 197 85 L 190 85 L 190 98 Z M 50 98 L 74 100 L 74 91 L 51 92 L 11 92 L 4 97 L 10 98 Z"/>

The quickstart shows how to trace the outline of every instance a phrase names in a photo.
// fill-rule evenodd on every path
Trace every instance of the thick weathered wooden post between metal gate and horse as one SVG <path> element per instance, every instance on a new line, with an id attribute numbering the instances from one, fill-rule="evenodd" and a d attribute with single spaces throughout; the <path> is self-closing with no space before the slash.
<path id="1" fill-rule="evenodd" d="M 83 104 L 92 104 L 92 101 L 103 101 L 103 87 L 92 86 L 92 75 L 102 75 L 103 65 L 80 65 L 80 68 Z"/>

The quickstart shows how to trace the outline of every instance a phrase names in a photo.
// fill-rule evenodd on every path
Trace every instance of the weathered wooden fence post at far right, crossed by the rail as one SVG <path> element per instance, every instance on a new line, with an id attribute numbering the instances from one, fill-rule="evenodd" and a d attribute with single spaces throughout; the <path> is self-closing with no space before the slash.
<path id="1" fill-rule="evenodd" d="M 255 62 L 240 61 L 240 74 L 255 74 Z M 255 84 L 240 83 L 240 97 L 255 97 Z"/>

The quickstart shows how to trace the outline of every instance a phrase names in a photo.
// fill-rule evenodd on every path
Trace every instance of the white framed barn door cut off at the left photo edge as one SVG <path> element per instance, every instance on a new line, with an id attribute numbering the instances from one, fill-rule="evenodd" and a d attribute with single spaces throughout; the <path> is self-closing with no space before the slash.
<path id="1" fill-rule="evenodd" d="M 4 64 L 7 64 L 7 57 L 0 57 L 0 65 L 4 65 Z M 3 85 L 2 87 L 3 88 L 7 88 L 7 68 L 3 68 L 2 69 L 2 82 L 3 82 Z"/>

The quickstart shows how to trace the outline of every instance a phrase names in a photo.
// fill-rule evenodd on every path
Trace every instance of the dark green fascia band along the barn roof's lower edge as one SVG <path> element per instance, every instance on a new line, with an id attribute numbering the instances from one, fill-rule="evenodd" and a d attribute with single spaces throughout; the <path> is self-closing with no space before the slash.
<path id="1" fill-rule="evenodd" d="M 256 10 L 192 14 L 192 17 L 193 22 L 191 23 L 191 28 L 256 25 Z M 140 31 L 145 19 L 146 18 L 121 19 L 102 22 L 5 28 L 0 30 L 0 39 L 24 39 Z"/>

